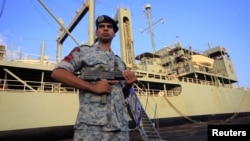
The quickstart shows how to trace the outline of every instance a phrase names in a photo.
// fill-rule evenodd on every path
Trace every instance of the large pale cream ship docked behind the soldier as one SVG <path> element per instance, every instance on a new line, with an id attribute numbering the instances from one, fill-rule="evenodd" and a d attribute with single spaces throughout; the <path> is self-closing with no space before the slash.
<path id="1" fill-rule="evenodd" d="M 150 5 L 145 8 L 150 12 Z M 93 1 L 87 1 L 68 27 L 58 21 L 62 32 L 57 40 L 57 61 L 64 40 L 87 12 L 92 16 L 89 33 L 94 33 L 93 9 Z M 130 107 L 130 121 L 136 122 L 130 124 L 131 131 L 138 129 L 149 138 L 143 128 L 145 117 L 160 139 L 158 127 L 250 116 L 250 89 L 234 85 L 237 75 L 225 47 L 196 52 L 177 42 L 135 56 L 130 11 L 119 8 L 115 19 L 120 27 L 120 56 L 138 79 L 131 91 L 130 104 L 134 105 Z M 88 43 L 95 43 L 94 35 L 90 35 Z M 38 59 L 7 60 L 7 47 L 0 46 L 1 140 L 72 135 L 79 90 L 51 78 L 56 62 L 49 61 L 44 48 L 45 44 Z"/>

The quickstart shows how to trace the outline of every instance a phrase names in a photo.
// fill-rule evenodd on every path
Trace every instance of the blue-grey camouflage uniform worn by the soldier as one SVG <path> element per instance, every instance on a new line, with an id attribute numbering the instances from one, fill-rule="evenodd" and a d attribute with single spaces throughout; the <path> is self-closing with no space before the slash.
<path id="1" fill-rule="evenodd" d="M 64 68 L 72 73 L 85 70 L 123 71 L 126 66 L 113 51 L 102 48 L 76 47 L 59 62 L 56 68 Z M 119 140 L 128 141 L 128 117 L 122 88 L 124 81 L 112 85 L 106 103 L 101 96 L 80 90 L 80 107 L 74 126 L 74 141 Z"/>

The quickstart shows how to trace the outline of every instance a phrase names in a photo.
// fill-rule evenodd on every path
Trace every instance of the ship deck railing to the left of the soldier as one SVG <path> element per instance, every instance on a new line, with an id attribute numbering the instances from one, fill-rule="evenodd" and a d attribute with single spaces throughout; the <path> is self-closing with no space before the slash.
<path id="1" fill-rule="evenodd" d="M 0 91 L 11 92 L 37 92 L 37 93 L 77 93 L 78 90 L 72 87 L 61 86 L 61 83 L 18 81 L 1 79 Z"/>

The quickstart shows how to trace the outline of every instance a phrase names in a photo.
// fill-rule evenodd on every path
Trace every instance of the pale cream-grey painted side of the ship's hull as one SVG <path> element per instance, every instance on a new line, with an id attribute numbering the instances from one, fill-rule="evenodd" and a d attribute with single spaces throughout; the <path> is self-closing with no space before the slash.
<path id="1" fill-rule="evenodd" d="M 138 94 L 157 127 L 209 120 L 230 120 L 250 115 L 250 91 L 179 82 L 178 96 Z M 0 92 L 0 138 L 72 135 L 78 110 L 78 94 L 55 92 Z M 56 135 L 53 135 L 56 136 Z"/>

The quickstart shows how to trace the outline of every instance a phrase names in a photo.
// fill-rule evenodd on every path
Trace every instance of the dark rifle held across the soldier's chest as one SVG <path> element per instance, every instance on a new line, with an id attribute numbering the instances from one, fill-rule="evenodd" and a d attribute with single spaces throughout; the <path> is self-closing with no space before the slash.
<path id="1" fill-rule="evenodd" d="M 101 70 L 87 70 L 81 74 L 81 79 L 86 81 L 96 81 L 96 80 L 124 80 L 121 71 L 101 71 Z M 102 104 L 106 104 L 107 102 L 107 95 L 102 95 Z"/>

